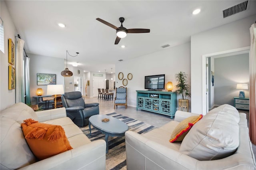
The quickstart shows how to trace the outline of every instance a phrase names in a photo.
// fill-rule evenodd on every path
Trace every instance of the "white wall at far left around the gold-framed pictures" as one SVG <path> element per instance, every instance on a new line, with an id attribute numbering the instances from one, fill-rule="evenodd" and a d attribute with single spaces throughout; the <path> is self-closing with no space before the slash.
<path id="1" fill-rule="evenodd" d="M 8 90 L 8 38 L 15 43 L 17 31 L 3 0 L 0 1 L 0 16 L 4 22 L 4 53 L 0 51 L 0 110 L 2 111 L 15 103 L 15 89 Z"/>

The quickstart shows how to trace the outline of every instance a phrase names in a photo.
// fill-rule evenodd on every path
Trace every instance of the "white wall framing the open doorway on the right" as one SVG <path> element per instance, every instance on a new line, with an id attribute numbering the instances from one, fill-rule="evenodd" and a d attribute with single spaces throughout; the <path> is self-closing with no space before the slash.
<path id="1" fill-rule="evenodd" d="M 191 36 L 191 111 L 202 113 L 202 55 L 250 46 L 256 15 Z"/>

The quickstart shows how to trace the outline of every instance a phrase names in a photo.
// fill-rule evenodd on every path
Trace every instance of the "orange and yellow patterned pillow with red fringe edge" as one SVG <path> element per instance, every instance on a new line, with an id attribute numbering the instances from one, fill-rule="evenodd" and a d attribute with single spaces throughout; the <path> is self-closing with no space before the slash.
<path id="1" fill-rule="evenodd" d="M 187 119 L 184 119 L 180 122 L 180 124 L 173 130 L 170 142 L 178 142 L 182 141 L 186 134 L 189 132 L 190 128 L 195 125 L 200 119 L 202 119 L 203 115 L 199 116 L 191 116 Z"/>

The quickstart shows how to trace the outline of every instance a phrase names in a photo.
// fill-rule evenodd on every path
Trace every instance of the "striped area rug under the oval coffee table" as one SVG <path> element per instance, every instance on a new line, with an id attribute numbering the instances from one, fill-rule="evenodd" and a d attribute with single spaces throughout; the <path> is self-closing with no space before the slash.
<path id="1" fill-rule="evenodd" d="M 120 115 L 118 113 L 107 114 L 109 116 L 115 117 L 120 121 L 126 123 L 129 130 L 137 132 L 139 134 L 144 134 L 153 130 L 155 127 L 148 125 L 141 121 L 132 119 L 127 116 Z M 81 130 L 86 134 L 91 141 L 103 139 L 105 140 L 105 134 L 102 134 L 98 130 L 95 130 L 92 126 L 92 135 L 90 136 L 89 127 L 82 127 Z M 126 170 L 126 152 L 125 152 L 125 137 L 108 137 L 108 153 L 106 154 L 106 169 L 107 170 Z"/>

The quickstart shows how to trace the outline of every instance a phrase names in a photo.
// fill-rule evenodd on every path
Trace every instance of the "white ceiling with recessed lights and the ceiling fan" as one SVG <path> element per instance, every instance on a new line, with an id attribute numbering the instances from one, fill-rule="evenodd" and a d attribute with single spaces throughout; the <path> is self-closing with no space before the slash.
<path id="1" fill-rule="evenodd" d="M 66 50 L 71 55 L 79 52 L 77 57 L 68 56 L 68 64 L 78 62 L 85 71 L 110 73 L 111 68 L 115 72 L 115 63 L 122 62 L 119 59 L 190 42 L 191 35 L 256 14 L 256 1 L 250 1 L 246 11 L 223 18 L 222 10 L 240 2 L 244 1 L 7 0 L 6 5 L 27 53 L 66 59 Z M 201 12 L 193 15 L 196 8 Z M 125 18 L 127 29 L 146 28 L 150 33 L 128 34 L 114 45 L 116 30 L 96 18 L 120 27 L 119 17 Z"/>

